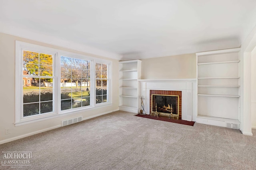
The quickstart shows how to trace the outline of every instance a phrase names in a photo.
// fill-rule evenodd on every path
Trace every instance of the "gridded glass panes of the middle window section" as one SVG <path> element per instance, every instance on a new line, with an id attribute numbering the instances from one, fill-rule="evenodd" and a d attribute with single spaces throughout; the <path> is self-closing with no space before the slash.
<path id="1" fill-rule="evenodd" d="M 61 110 L 90 106 L 91 61 L 60 57 Z"/>

